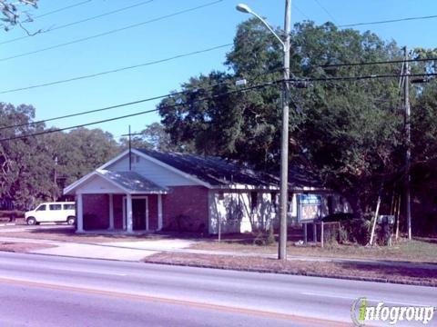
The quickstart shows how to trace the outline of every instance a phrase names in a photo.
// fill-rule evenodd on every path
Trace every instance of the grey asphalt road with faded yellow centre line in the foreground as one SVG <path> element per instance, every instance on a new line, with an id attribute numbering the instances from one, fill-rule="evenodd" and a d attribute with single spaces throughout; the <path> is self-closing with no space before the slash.
<path id="1" fill-rule="evenodd" d="M 351 325 L 363 296 L 437 305 L 431 287 L 0 253 L 0 326 Z"/>

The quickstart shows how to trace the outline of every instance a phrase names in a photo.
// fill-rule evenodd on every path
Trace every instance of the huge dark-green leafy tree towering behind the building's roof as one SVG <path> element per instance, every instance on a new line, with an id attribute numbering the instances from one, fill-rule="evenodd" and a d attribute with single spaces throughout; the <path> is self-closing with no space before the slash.
<path id="1" fill-rule="evenodd" d="M 319 67 L 401 58 L 394 42 L 384 42 L 371 32 L 307 22 L 295 25 L 291 44 L 290 67 L 296 76 L 400 74 L 399 65 L 392 64 Z M 279 87 L 229 94 L 236 89 L 229 79 L 242 77 L 252 84 L 280 79 L 280 45 L 251 19 L 239 25 L 226 64 L 231 73 L 192 77 L 182 85 L 186 94 L 162 101 L 158 105 L 162 124 L 173 142 L 193 144 L 198 153 L 278 172 Z M 314 82 L 309 89 L 291 92 L 290 162 L 302 164 L 326 186 L 343 193 L 361 215 L 381 182 L 399 172 L 404 144 L 397 81 Z"/>

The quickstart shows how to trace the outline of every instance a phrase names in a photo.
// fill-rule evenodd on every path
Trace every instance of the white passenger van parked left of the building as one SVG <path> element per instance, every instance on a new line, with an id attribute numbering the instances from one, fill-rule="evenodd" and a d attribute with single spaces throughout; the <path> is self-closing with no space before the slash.
<path id="1" fill-rule="evenodd" d="M 76 222 L 75 203 L 41 203 L 36 209 L 25 212 L 25 222 L 28 225 L 48 222 L 74 224 Z"/>

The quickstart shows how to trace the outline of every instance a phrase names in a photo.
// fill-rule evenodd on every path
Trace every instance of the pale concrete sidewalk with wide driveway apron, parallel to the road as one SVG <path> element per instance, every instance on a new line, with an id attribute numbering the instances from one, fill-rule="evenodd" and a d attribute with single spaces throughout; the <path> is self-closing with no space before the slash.
<path id="1" fill-rule="evenodd" d="M 141 261 L 143 258 L 155 253 L 190 253 L 190 254 L 208 254 L 208 255 L 231 255 L 240 257 L 262 257 L 262 258 L 277 258 L 276 254 L 261 254 L 261 253 L 239 253 L 229 251 L 208 251 L 189 249 L 189 246 L 195 244 L 189 240 L 147 240 L 135 242 L 111 242 L 111 243 L 79 243 L 65 241 L 50 241 L 36 240 L 15 237 L 0 237 L 0 242 L 11 243 L 39 243 L 50 244 L 56 247 L 31 251 L 31 253 L 51 254 L 71 256 L 77 258 L 94 258 L 108 260 L 123 260 L 123 261 Z M 366 259 L 343 259 L 329 257 L 313 257 L 313 256 L 298 256 L 288 255 L 289 260 L 320 262 L 320 263 L 345 263 L 345 264 L 365 264 L 371 266 L 388 266 L 410 269 L 437 269 L 435 263 L 411 263 L 411 262 L 396 262 L 383 260 L 366 260 Z"/>

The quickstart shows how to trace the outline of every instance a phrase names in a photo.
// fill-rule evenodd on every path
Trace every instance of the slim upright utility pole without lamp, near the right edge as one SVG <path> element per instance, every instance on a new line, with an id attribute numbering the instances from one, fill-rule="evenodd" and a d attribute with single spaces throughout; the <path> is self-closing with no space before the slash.
<path id="1" fill-rule="evenodd" d="M 404 79 L 404 108 L 405 108 L 405 138 L 407 142 L 407 149 L 405 152 L 405 213 L 407 216 L 407 229 L 408 239 L 412 239 L 412 199 L 410 183 L 412 176 L 410 174 L 411 161 L 412 161 L 412 126 L 411 126 L 411 108 L 410 108 L 410 64 L 407 46 L 403 48 L 405 55 L 405 79 Z"/>

